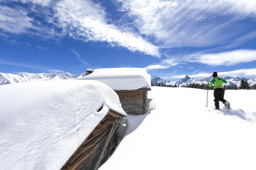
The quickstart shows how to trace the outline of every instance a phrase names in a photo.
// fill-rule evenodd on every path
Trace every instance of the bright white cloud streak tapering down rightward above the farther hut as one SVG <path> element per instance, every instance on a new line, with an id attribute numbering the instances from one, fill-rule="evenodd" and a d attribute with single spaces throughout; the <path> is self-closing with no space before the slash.
<path id="1" fill-rule="evenodd" d="M 90 0 L 61 0 L 55 6 L 55 17 L 65 32 L 79 40 L 108 42 L 131 51 L 160 57 L 159 48 L 133 32 L 110 24 L 99 4 Z"/>

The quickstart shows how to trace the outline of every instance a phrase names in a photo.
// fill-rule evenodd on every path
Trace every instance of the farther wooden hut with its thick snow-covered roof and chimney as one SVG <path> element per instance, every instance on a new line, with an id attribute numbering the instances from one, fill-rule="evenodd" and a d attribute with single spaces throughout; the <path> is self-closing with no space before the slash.
<path id="1" fill-rule="evenodd" d="M 151 89 L 150 74 L 144 68 L 102 68 L 76 79 L 98 80 L 111 87 L 119 96 L 128 114 L 147 113 L 147 94 Z"/>

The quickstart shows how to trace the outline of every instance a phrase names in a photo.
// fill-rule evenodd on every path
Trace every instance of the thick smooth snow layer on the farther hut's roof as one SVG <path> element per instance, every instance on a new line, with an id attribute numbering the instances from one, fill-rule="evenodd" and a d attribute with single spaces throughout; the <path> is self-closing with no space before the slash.
<path id="1" fill-rule="evenodd" d="M 151 88 L 150 74 L 144 68 L 101 68 L 76 79 L 91 79 L 104 82 L 113 90 L 136 90 Z"/>

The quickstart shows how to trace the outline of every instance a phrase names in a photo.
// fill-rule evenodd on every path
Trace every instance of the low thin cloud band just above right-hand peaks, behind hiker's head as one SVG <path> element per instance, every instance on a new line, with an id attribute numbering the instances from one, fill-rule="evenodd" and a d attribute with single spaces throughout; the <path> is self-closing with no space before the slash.
<path id="1" fill-rule="evenodd" d="M 203 79 L 203 78 L 209 77 L 211 75 L 212 75 L 212 73 L 201 73 L 201 74 L 189 75 L 189 77 L 195 78 L 195 79 Z M 186 75 L 179 75 L 179 76 L 174 76 L 174 78 L 184 78 L 185 76 Z M 256 77 L 256 68 L 218 72 L 218 76 L 220 76 L 220 77 L 227 77 L 227 76 L 230 76 L 230 77 Z"/>

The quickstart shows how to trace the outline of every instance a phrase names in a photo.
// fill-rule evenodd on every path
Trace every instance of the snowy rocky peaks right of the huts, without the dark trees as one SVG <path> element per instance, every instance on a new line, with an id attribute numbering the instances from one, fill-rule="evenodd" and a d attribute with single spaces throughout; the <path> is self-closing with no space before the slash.
<path id="1" fill-rule="evenodd" d="M 255 78 L 244 78 L 244 77 L 222 77 L 223 79 L 225 79 L 227 81 L 227 84 L 225 85 L 235 85 L 239 86 L 241 79 L 245 79 L 247 80 L 247 82 L 249 83 L 249 85 L 255 85 L 256 84 L 256 79 Z M 174 86 L 175 84 L 178 86 L 186 86 L 189 83 L 198 83 L 198 84 L 207 84 L 208 82 L 211 82 L 212 80 L 212 76 L 201 79 L 201 80 L 197 80 L 194 78 L 191 78 L 189 76 L 184 77 L 183 79 L 179 79 L 177 82 L 172 82 L 172 81 L 166 81 L 161 79 L 160 77 L 155 76 L 154 78 L 151 79 L 151 82 L 153 82 L 154 84 L 157 83 L 166 83 L 166 85 L 172 85 Z"/>

